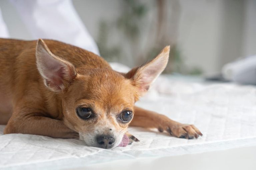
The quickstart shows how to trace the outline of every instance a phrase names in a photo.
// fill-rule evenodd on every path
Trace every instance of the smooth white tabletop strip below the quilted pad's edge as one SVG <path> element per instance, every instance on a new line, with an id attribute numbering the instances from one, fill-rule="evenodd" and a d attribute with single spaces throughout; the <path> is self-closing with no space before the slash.
<path id="1" fill-rule="evenodd" d="M 86 170 L 255 170 L 256 146 L 164 157 L 146 157 L 98 163 Z M 73 170 L 84 170 L 75 168 Z"/>

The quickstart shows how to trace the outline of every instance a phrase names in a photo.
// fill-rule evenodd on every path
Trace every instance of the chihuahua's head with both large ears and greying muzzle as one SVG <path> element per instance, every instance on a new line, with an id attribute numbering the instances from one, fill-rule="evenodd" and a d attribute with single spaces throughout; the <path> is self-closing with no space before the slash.
<path id="1" fill-rule="evenodd" d="M 90 68 L 79 71 L 39 40 L 37 68 L 44 84 L 61 96 L 65 125 L 79 132 L 88 146 L 112 148 L 122 141 L 134 116 L 134 103 L 164 70 L 170 47 L 128 73 Z M 89 63 L 88 63 L 89 64 Z M 142 120 L 143 121 L 143 120 Z"/>

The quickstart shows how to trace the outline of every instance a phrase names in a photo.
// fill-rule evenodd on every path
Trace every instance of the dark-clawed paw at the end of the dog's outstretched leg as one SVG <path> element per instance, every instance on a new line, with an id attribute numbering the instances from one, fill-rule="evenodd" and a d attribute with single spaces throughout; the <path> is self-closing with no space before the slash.
<path id="1" fill-rule="evenodd" d="M 163 132 L 163 128 L 159 127 L 158 130 Z M 193 139 L 198 138 L 200 135 L 203 134 L 196 128 L 194 125 L 188 124 L 177 124 L 172 126 L 167 126 L 165 130 L 173 136 L 179 138 L 186 138 L 186 139 Z"/>

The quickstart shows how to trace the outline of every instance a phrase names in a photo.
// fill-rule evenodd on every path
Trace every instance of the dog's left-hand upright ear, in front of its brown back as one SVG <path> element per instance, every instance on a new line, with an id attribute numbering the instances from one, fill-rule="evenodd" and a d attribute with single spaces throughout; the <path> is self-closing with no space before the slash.
<path id="1" fill-rule="evenodd" d="M 44 84 L 54 92 L 62 91 L 77 74 L 73 64 L 54 55 L 41 39 L 36 45 L 36 64 Z"/>

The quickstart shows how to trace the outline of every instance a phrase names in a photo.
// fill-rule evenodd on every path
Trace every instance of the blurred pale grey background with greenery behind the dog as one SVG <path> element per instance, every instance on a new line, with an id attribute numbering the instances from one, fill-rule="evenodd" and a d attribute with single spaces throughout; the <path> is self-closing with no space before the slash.
<path id="1" fill-rule="evenodd" d="M 73 0 L 108 61 L 134 66 L 171 45 L 167 73 L 214 74 L 256 54 L 256 0 Z M 10 36 L 31 40 L 8 0 L 0 8 Z M 53 26 L 54 27 L 54 26 Z"/>

